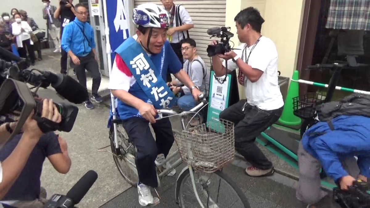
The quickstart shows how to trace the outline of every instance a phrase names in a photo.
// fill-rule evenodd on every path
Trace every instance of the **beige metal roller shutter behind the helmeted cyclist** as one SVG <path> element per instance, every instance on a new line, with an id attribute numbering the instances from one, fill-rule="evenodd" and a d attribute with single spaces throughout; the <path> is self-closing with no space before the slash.
<path id="1" fill-rule="evenodd" d="M 144 3 L 155 3 L 162 6 L 158 0 L 134 0 L 135 7 Z M 207 46 L 211 40 L 206 33 L 208 28 L 225 26 L 226 0 L 175 0 L 175 4 L 181 4 L 189 12 L 193 20 L 194 28 L 189 30 L 189 36 L 196 42 L 198 54 L 211 68 L 207 56 Z"/>

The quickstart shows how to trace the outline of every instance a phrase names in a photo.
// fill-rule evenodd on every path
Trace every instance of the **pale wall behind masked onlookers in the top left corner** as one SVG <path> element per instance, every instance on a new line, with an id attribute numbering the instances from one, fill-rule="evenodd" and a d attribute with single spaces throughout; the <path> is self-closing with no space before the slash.
<path id="1" fill-rule="evenodd" d="M 58 0 L 50 1 L 56 7 L 59 4 Z M 77 3 L 78 0 L 74 0 L 73 4 Z M 10 14 L 10 10 L 13 8 L 27 11 L 27 15 L 36 21 L 38 27 L 46 29 L 46 20 L 43 19 L 44 4 L 41 0 L 1 0 L 0 13 L 7 12 Z"/>

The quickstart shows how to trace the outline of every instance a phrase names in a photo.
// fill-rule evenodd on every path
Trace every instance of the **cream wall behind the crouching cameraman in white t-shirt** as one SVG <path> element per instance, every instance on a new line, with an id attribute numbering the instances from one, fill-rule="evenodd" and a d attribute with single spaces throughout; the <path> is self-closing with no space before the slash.
<path id="1" fill-rule="evenodd" d="M 257 8 L 265 23 L 262 35 L 276 45 L 279 55 L 278 70 L 281 76 L 291 77 L 296 69 L 304 0 L 226 0 L 226 26 L 235 34 L 232 41 L 239 44 L 234 17 L 246 7 Z M 245 98 L 244 87 L 239 85 L 239 97 Z"/>

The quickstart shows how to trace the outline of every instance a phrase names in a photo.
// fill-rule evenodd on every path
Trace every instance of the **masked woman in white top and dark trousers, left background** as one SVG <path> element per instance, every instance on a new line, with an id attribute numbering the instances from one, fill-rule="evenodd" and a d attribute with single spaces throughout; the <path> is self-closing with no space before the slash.
<path id="1" fill-rule="evenodd" d="M 27 51 L 31 60 L 32 66 L 35 65 L 35 51 L 33 50 L 33 41 L 30 33 L 32 28 L 26 21 L 22 21 L 21 15 L 16 13 L 13 16 L 15 23 L 11 24 L 13 35 L 16 36 L 18 53 L 22 58 L 27 58 Z M 27 48 L 27 50 L 26 50 Z"/>

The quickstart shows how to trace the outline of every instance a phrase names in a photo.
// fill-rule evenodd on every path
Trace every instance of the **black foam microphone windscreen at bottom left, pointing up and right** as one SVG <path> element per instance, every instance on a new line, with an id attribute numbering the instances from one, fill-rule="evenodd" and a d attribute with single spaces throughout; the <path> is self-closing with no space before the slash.
<path id="1" fill-rule="evenodd" d="M 90 170 L 88 171 L 77 183 L 68 191 L 66 197 L 70 198 L 73 204 L 80 203 L 81 199 L 84 198 L 88 190 L 92 187 L 92 184 L 97 180 L 98 174 Z"/>

